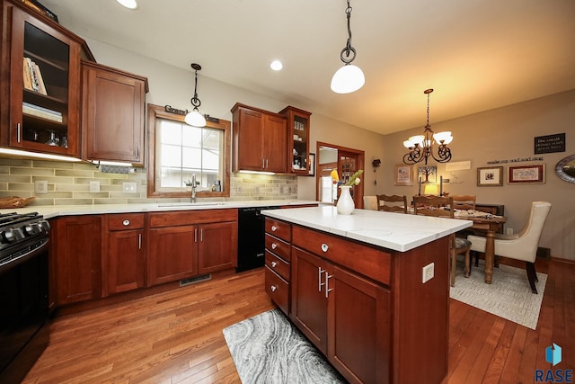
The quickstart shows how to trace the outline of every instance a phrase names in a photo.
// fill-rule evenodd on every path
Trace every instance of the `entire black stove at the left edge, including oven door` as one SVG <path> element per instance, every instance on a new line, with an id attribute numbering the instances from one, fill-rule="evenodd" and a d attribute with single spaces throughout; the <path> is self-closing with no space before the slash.
<path id="1" fill-rule="evenodd" d="M 49 223 L 0 214 L 0 382 L 22 381 L 49 344 Z"/>

